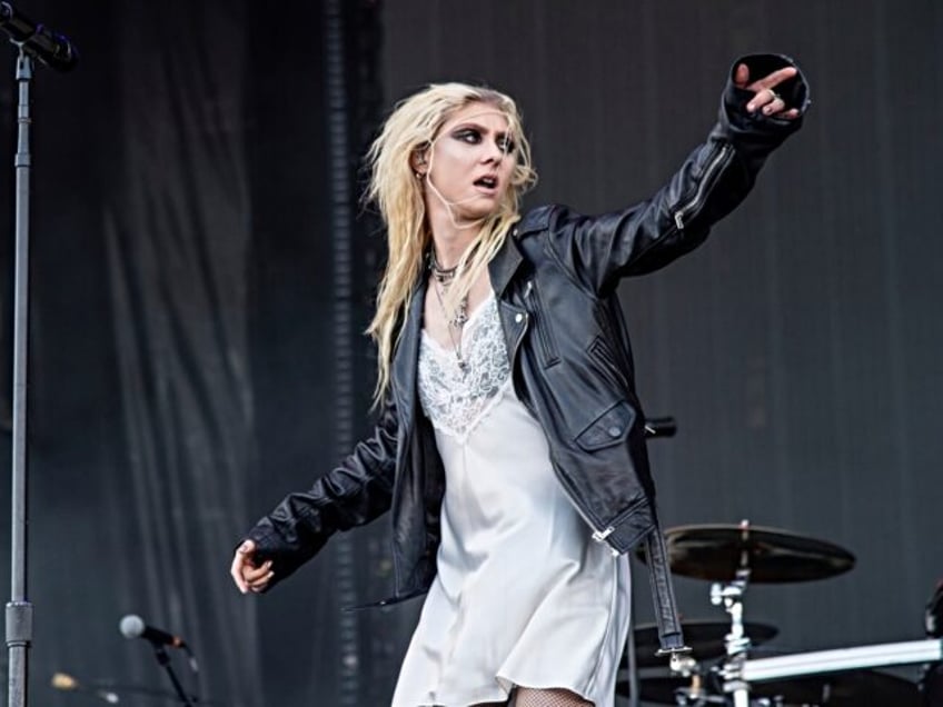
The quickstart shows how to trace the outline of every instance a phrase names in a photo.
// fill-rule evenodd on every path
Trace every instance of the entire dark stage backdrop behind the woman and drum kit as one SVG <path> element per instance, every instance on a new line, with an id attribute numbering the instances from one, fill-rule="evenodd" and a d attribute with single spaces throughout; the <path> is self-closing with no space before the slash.
<path id="1" fill-rule="evenodd" d="M 417 606 L 340 613 L 389 590 L 384 521 L 261 599 L 228 578 L 242 529 L 368 421 L 359 331 L 383 248 L 356 182 L 378 117 L 434 80 L 507 90 L 542 175 L 529 203 L 602 211 L 656 188 L 709 128 L 729 62 L 763 50 L 808 73 L 806 128 L 705 247 L 623 291 L 643 399 L 679 425 L 652 446 L 663 517 L 750 518 L 855 552 L 843 577 L 750 588 L 746 617 L 780 628 L 776 649 L 921 637 L 943 575 L 937 2 L 21 9 L 82 53 L 36 81 L 31 701 L 100 701 L 53 691 L 57 670 L 167 689 L 118 633 L 129 613 L 188 639 L 200 674 L 175 666 L 216 704 L 388 701 Z M 678 588 L 688 617 L 723 620 L 706 582 Z M 636 605 L 646 620 L 644 587 Z"/>

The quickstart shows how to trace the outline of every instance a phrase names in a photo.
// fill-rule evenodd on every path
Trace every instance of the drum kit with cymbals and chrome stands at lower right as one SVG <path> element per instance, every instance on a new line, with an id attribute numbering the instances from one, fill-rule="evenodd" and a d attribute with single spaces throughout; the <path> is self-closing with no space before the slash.
<path id="1" fill-rule="evenodd" d="M 775 528 L 732 525 L 681 526 L 665 531 L 672 571 L 705 579 L 711 603 L 728 621 L 685 621 L 689 653 L 672 658 L 671 671 L 657 656 L 654 626 L 633 633 L 629 679 L 617 694 L 633 704 L 707 707 L 851 706 L 910 707 L 921 704 L 916 684 L 874 668 L 939 664 L 943 640 L 926 639 L 835 650 L 753 658 L 751 648 L 774 638 L 777 629 L 744 621 L 743 598 L 751 582 L 798 582 L 850 570 L 854 556 L 844 548 Z M 644 556 L 639 554 L 644 561 Z M 937 634 L 933 634 L 937 635 Z M 658 674 L 652 669 L 658 668 Z M 639 677 L 641 676 L 641 677 Z M 926 704 L 926 703 L 923 703 Z"/>

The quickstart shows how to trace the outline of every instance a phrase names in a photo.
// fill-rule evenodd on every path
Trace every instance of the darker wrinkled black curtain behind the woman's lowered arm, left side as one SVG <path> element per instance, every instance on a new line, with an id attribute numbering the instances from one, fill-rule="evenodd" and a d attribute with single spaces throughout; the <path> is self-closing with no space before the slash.
<path id="1" fill-rule="evenodd" d="M 53 691 L 64 671 L 122 704 L 176 704 L 147 644 L 118 631 L 139 614 L 186 638 L 199 673 L 176 651 L 171 665 L 214 704 L 361 704 L 377 688 L 358 651 L 384 631 L 339 608 L 389 590 L 381 529 L 261 601 L 228 566 L 240 534 L 368 420 L 361 332 L 381 241 L 355 217 L 379 100 L 376 6 L 49 1 L 29 14 L 81 53 L 71 74 L 37 71 L 34 89 L 31 697 L 100 698 Z M 4 343 L 10 292 L 8 271 Z"/>

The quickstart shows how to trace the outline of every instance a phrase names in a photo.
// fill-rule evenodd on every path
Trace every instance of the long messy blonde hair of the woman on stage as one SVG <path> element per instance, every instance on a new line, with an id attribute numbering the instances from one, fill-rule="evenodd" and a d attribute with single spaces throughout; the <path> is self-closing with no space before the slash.
<path id="1" fill-rule="evenodd" d="M 508 137 L 515 145 L 510 156 L 515 166 L 498 208 L 482 221 L 458 263 L 458 271 L 466 275 L 448 292 L 450 302 L 457 303 L 504 245 L 508 230 L 520 218 L 520 197 L 537 181 L 517 106 L 509 97 L 489 88 L 434 83 L 397 104 L 367 152 L 370 180 L 364 197 L 379 208 L 388 247 L 376 313 L 367 328 L 378 348 L 375 404 L 389 387 L 393 354 L 431 243 L 423 180 L 414 175 L 411 158 L 433 146 L 449 116 L 475 102 L 494 106 L 507 118 Z"/>

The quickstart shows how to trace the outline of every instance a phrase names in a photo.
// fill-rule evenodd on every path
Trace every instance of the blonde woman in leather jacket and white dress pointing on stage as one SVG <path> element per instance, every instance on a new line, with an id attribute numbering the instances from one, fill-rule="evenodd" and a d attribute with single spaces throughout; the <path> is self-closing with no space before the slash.
<path id="1" fill-rule="evenodd" d="M 788 59 L 741 60 L 671 181 L 594 218 L 520 217 L 536 176 L 506 96 L 451 83 L 400 103 L 369 152 L 389 242 L 369 328 L 381 415 L 247 535 L 239 589 L 391 509 L 393 600 L 428 591 L 395 707 L 611 707 L 625 552 L 645 542 L 662 648 L 682 650 L 615 290 L 703 242 L 807 103 Z"/>

